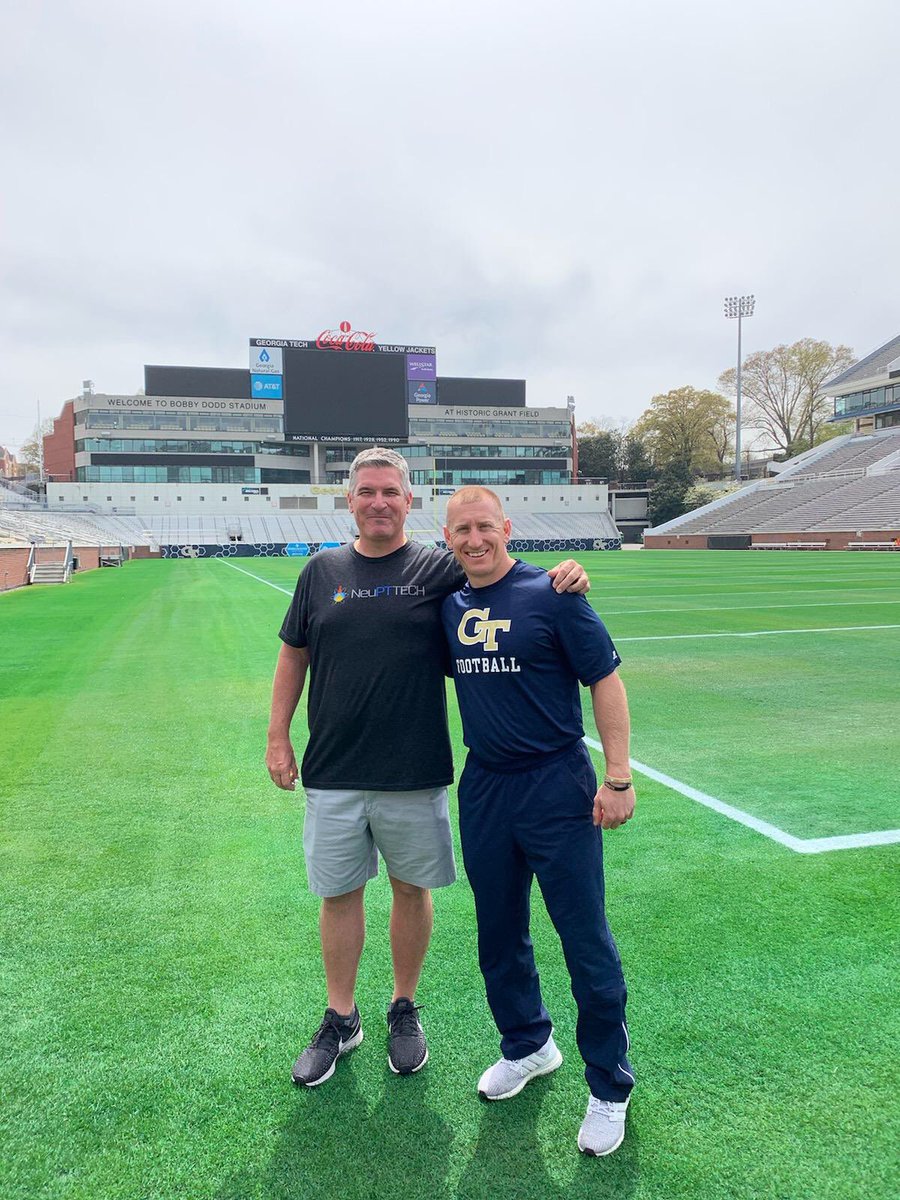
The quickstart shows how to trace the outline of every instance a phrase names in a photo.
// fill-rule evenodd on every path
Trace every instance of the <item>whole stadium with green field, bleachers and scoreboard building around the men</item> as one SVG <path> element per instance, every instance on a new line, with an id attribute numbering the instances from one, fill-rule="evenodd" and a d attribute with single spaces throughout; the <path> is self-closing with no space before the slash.
<path id="1" fill-rule="evenodd" d="M 374 414 L 353 408 L 359 374 L 337 394 L 319 376 L 330 400 L 294 407 L 304 355 L 359 372 L 382 352 L 276 341 L 252 340 L 251 362 L 282 350 L 280 374 L 86 386 L 46 446 L 47 506 L 0 488 L 4 1195 L 895 1195 L 900 557 L 859 550 L 898 535 L 900 433 L 834 439 L 608 553 L 620 532 L 606 487 L 572 482 L 568 409 L 528 409 L 522 380 L 409 379 L 433 348 L 406 346 L 384 350 Z M 254 376 L 283 395 L 254 400 Z M 410 402 L 422 383 L 433 398 Z M 476 1100 L 497 1046 L 461 872 L 436 894 L 421 984 L 431 1061 L 391 1078 L 382 874 L 367 1040 L 326 1087 L 289 1084 L 322 977 L 302 797 L 263 768 L 276 634 L 298 572 L 353 534 L 344 476 L 371 440 L 409 458 L 426 542 L 454 487 L 503 476 L 485 481 L 514 551 L 576 554 L 623 658 L 638 817 L 605 857 L 638 1087 L 601 1164 L 560 1134 L 584 1081 L 536 889 L 554 1075 Z M 65 586 L 13 586 L 48 574 Z"/>

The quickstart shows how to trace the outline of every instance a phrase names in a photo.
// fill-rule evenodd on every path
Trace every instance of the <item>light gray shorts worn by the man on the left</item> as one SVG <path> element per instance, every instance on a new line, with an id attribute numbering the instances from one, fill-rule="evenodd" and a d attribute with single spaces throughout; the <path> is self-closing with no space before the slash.
<path id="1" fill-rule="evenodd" d="M 379 851 L 395 880 L 446 887 L 456 878 L 446 788 L 307 787 L 304 851 L 310 890 L 318 896 L 340 896 L 374 878 Z"/>

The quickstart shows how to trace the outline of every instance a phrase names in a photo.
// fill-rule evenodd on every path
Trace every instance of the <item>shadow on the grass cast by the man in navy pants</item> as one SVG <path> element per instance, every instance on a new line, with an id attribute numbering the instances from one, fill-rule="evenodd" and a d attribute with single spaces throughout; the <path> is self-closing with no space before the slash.
<path id="1" fill-rule="evenodd" d="M 545 1102 L 551 1106 L 558 1098 L 539 1084 L 526 1088 L 511 1103 L 482 1102 L 475 1153 L 460 1180 L 458 1200 L 486 1200 L 494 1195 L 534 1200 L 578 1200 L 581 1196 L 628 1200 L 634 1194 L 640 1175 L 640 1147 L 634 1132 L 628 1130 L 623 1146 L 614 1154 L 588 1158 L 576 1146 L 583 1112 L 571 1123 L 559 1121 L 551 1130 L 545 1121 L 539 1134 L 541 1106 Z M 547 1171 L 546 1160 L 569 1156 L 577 1159 L 574 1178 L 557 1183 Z"/>

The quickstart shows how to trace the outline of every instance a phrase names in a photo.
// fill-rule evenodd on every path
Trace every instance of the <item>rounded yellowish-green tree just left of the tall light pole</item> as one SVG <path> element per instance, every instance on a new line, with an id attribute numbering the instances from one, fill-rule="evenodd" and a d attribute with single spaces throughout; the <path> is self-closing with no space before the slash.
<path id="1" fill-rule="evenodd" d="M 731 403 L 718 391 L 676 388 L 653 397 L 632 433 L 647 443 L 655 467 L 678 462 L 703 474 L 720 469 L 715 431 L 722 425 L 730 428 L 733 421 Z"/>

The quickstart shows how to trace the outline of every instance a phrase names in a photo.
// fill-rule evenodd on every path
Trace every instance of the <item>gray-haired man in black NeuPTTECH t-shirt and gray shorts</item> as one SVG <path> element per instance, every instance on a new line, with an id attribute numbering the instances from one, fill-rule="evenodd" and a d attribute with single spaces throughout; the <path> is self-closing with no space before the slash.
<path id="1" fill-rule="evenodd" d="M 394 997 L 388 1062 L 410 1074 L 428 1051 L 414 1004 L 431 938 L 431 889 L 456 877 L 446 787 L 446 647 L 440 605 L 464 582 L 444 551 L 407 540 L 412 506 L 406 460 L 364 450 L 348 504 L 359 536 L 319 552 L 298 581 L 281 629 L 266 767 L 306 792 L 304 850 L 310 888 L 322 896 L 325 1016 L 294 1063 L 296 1084 L 329 1079 L 362 1040 L 354 991 L 365 916 L 362 894 L 385 859 L 394 899 Z M 557 589 L 586 590 L 575 563 L 552 572 Z M 290 721 L 310 674 L 310 739 L 298 770 Z"/>

